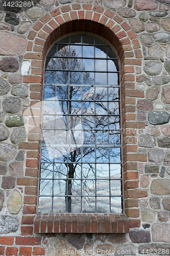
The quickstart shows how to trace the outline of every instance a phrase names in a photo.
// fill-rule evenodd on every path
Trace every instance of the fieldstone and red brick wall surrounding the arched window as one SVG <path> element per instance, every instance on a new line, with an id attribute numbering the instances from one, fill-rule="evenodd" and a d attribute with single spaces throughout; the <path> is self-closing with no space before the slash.
<path id="1" fill-rule="evenodd" d="M 0 255 L 170 254 L 169 4 L 41 0 L 22 12 L 0 12 Z M 117 226 L 109 226 L 110 232 L 102 215 L 89 217 L 96 232 L 86 229 L 82 215 L 81 233 L 69 228 L 79 216 L 68 215 L 68 222 L 64 215 L 63 231 L 56 233 L 61 217 L 36 215 L 45 55 L 59 37 L 82 31 L 107 40 L 122 67 L 124 214 L 130 232 L 124 215 L 111 216 Z"/>

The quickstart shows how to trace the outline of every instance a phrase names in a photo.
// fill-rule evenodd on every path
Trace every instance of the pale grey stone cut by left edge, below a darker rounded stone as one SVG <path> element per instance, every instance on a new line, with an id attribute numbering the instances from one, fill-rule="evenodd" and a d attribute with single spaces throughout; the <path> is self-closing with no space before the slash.
<path id="1" fill-rule="evenodd" d="M 6 143 L 0 143 L 0 161 L 10 161 L 16 153 L 16 148 Z"/>

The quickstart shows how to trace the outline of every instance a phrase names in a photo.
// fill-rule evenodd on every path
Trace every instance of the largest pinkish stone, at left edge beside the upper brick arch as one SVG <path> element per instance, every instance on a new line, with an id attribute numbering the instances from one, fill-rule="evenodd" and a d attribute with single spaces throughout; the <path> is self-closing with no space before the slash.
<path id="1" fill-rule="evenodd" d="M 26 50 L 26 45 L 26 39 L 6 32 L 0 32 L 0 55 L 16 56 L 23 54 Z"/>

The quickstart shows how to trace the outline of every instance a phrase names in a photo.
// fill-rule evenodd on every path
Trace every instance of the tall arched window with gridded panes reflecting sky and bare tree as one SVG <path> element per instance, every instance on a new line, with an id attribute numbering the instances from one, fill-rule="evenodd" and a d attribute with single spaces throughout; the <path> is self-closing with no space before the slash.
<path id="1" fill-rule="evenodd" d="M 39 212 L 122 212 L 118 60 L 71 35 L 46 57 Z"/>

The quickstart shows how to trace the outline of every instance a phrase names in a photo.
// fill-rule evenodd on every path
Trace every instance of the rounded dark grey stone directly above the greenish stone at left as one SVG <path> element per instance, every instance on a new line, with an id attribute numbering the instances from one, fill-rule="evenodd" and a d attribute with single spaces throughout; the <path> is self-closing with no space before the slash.
<path id="1" fill-rule="evenodd" d="M 7 113 L 17 113 L 20 110 L 20 100 L 15 97 L 5 98 L 3 101 L 3 109 Z"/>

